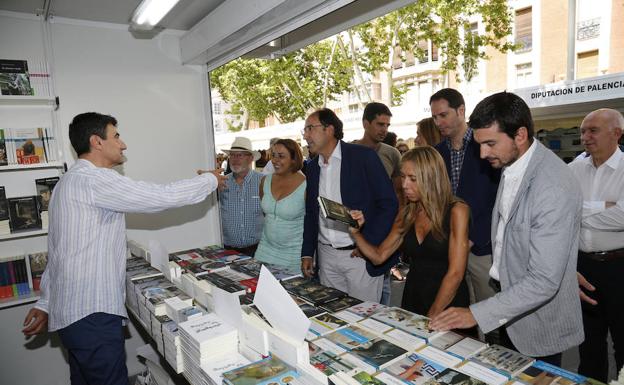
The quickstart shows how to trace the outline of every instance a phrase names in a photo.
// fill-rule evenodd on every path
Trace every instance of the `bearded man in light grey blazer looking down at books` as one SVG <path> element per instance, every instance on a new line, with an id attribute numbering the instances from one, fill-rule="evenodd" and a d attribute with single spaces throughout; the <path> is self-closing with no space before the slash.
<path id="1" fill-rule="evenodd" d="M 436 330 L 501 328 L 502 343 L 561 365 L 561 352 L 583 341 L 576 278 L 582 195 L 561 159 L 533 138 L 533 120 L 517 95 L 483 99 L 470 121 L 481 157 L 503 176 L 492 212 L 492 284 L 498 293 L 470 308 L 449 308 Z"/>

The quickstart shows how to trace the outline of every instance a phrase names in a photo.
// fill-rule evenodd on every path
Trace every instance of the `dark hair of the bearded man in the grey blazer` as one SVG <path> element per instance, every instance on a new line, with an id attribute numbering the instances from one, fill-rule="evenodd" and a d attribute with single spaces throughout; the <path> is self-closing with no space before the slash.
<path id="1" fill-rule="evenodd" d="M 477 104 L 468 120 L 473 130 L 490 127 L 493 123 L 498 123 L 499 131 L 512 139 L 520 127 L 526 127 L 529 142 L 533 142 L 531 110 L 516 94 L 499 92 L 488 96 Z"/>

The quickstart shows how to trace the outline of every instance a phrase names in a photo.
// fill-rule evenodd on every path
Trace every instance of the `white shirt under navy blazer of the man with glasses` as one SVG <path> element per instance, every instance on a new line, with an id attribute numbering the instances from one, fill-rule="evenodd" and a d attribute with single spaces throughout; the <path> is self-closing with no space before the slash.
<path id="1" fill-rule="evenodd" d="M 334 148 L 328 163 L 325 163 L 323 155 L 319 154 L 319 196 L 342 203 L 340 195 L 340 167 L 342 165 L 342 149 L 340 141 Z M 333 221 L 323 217 L 319 210 L 319 241 L 332 247 L 344 247 L 352 245 L 353 239 L 349 235 L 349 226 L 342 222 Z"/>

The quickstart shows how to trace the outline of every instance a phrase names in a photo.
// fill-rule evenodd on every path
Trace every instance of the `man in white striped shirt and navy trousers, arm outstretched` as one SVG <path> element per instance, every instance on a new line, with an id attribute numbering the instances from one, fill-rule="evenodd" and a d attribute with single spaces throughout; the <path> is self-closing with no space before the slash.
<path id="1" fill-rule="evenodd" d="M 124 213 L 195 204 L 225 177 L 221 170 L 166 185 L 135 182 L 113 170 L 126 144 L 112 116 L 89 112 L 69 125 L 78 155 L 50 200 L 48 265 L 41 299 L 24 320 L 31 336 L 58 331 L 72 384 L 127 384 L 123 324 L 126 274 Z"/>

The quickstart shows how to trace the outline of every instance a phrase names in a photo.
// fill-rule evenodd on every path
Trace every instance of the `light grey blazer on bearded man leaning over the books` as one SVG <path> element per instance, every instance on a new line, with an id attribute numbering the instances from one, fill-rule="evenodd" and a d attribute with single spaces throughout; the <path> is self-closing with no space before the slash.
<path id="1" fill-rule="evenodd" d="M 518 351 L 533 357 L 584 339 L 576 278 L 583 198 L 565 163 L 536 144 L 505 226 L 501 292 L 470 306 L 483 332 L 505 325 Z M 493 240 L 503 185 L 492 211 Z"/>

